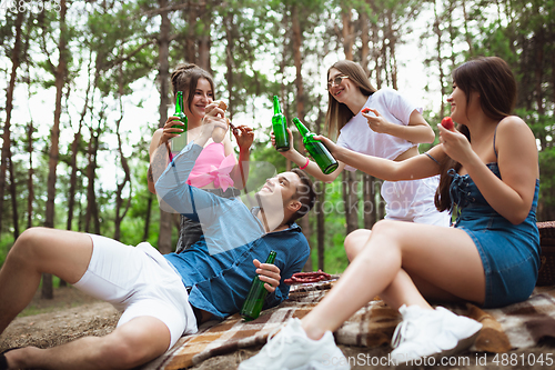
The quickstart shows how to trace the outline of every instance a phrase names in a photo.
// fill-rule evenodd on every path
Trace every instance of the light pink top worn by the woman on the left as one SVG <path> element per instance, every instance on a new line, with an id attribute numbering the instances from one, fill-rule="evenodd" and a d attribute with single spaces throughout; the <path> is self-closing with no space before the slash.
<path id="1" fill-rule="evenodd" d="M 225 191 L 229 187 L 233 187 L 233 180 L 230 177 L 233 167 L 235 167 L 235 157 L 233 154 L 225 157 L 223 143 L 211 142 L 196 158 L 186 183 L 202 188 L 214 182 L 215 188 L 222 188 Z"/>

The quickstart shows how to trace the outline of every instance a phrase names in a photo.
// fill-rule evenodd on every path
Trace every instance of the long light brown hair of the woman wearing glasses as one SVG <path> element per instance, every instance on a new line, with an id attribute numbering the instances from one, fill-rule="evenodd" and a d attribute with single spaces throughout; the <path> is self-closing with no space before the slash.
<path id="1" fill-rule="evenodd" d="M 330 79 L 330 70 L 335 68 L 341 73 L 349 76 L 349 79 L 353 81 L 361 92 L 370 97 L 376 89 L 370 83 L 369 77 L 361 64 L 355 63 L 351 60 L 340 60 L 335 62 L 327 70 L 327 80 Z M 353 118 L 354 113 L 349 109 L 347 106 L 340 103 L 330 90 L 327 90 L 327 113 L 325 114 L 325 126 L 327 128 L 327 136 L 334 137 L 340 134 L 340 130 Z"/>

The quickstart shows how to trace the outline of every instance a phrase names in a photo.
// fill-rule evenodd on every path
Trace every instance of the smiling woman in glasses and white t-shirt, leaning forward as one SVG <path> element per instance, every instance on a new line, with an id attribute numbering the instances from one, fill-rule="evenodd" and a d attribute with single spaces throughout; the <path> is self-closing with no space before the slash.
<path id="1" fill-rule="evenodd" d="M 394 161 L 420 154 L 418 143 L 431 143 L 435 139 L 434 131 L 422 117 L 421 107 L 396 90 L 376 90 L 363 68 L 350 60 L 340 60 L 327 70 L 325 126 L 330 136 L 337 137 L 337 146 Z M 275 142 L 273 136 L 272 142 Z M 290 142 L 290 150 L 281 153 L 321 181 L 332 182 L 344 169 L 362 170 L 339 161 L 335 171 L 324 174 L 316 163 L 293 148 L 293 140 Z M 434 203 L 438 184 L 437 176 L 422 180 L 384 181 L 381 194 L 385 200 L 385 219 L 448 227 L 448 212 L 437 211 Z M 345 251 L 350 260 L 359 253 L 357 248 L 347 244 Z"/>

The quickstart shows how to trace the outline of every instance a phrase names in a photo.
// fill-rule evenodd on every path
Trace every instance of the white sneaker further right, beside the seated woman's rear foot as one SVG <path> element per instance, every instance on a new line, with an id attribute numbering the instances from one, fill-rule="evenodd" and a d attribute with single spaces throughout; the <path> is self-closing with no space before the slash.
<path id="1" fill-rule="evenodd" d="M 474 343 L 482 324 L 437 307 L 426 310 L 417 306 L 402 306 L 403 321 L 393 333 L 391 358 L 405 363 L 422 357 L 448 356 Z"/>

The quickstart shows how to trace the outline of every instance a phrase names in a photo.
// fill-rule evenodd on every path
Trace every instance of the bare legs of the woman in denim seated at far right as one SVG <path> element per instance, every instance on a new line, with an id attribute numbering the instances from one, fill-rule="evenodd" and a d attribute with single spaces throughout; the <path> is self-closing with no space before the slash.
<path id="1" fill-rule="evenodd" d="M 431 308 L 410 278 L 413 274 L 427 282 L 430 292 L 436 287 L 437 292 L 462 300 L 484 300 L 482 260 L 466 232 L 386 220 L 374 226 L 337 284 L 303 319 L 303 328 L 310 338 L 319 339 L 326 330 L 336 330 L 373 297 L 384 293 L 395 309 L 401 304 Z"/>

